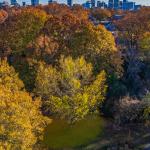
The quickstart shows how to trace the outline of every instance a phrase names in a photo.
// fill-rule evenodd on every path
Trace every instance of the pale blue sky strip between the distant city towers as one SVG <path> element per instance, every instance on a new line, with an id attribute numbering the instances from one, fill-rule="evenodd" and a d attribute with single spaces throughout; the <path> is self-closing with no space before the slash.
<path id="1" fill-rule="evenodd" d="M 0 1 L 3 1 L 3 0 L 0 0 Z M 8 1 L 9 0 L 5 0 L 5 1 Z M 27 2 L 28 4 L 30 4 L 30 0 L 18 0 L 19 3 L 21 3 L 22 1 L 25 1 Z M 48 0 L 40 0 L 40 3 L 43 3 L 43 4 L 46 4 Z M 57 0 L 57 2 L 59 3 L 66 3 L 67 0 Z M 86 0 L 73 0 L 74 3 L 83 3 L 85 2 Z M 105 2 L 108 2 L 108 0 L 103 0 Z M 129 1 L 134 1 L 136 2 L 137 4 L 142 4 L 142 5 L 149 5 L 150 6 L 150 0 L 129 0 Z"/>

